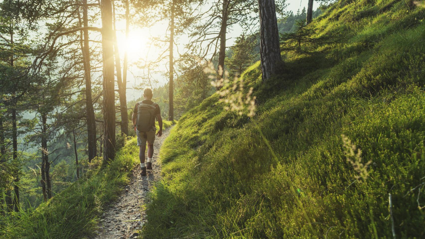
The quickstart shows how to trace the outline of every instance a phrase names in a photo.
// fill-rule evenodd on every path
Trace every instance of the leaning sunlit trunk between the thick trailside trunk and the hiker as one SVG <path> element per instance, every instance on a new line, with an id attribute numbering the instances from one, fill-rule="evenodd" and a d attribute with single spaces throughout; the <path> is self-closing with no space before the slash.
<path id="1" fill-rule="evenodd" d="M 119 95 L 119 111 L 121 112 L 121 135 L 128 135 L 128 113 L 127 113 L 127 97 L 125 95 L 126 89 L 123 87 L 121 77 L 121 62 L 119 60 L 118 40 L 116 39 L 116 26 L 115 26 L 115 5 L 113 6 L 113 49 L 115 54 L 115 67 L 116 67 L 116 81 L 118 83 Z"/>

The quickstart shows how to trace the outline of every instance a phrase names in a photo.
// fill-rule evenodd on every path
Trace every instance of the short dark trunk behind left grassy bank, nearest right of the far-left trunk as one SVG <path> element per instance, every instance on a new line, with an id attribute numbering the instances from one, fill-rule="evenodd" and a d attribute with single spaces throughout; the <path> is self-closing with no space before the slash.
<path id="1" fill-rule="evenodd" d="M 43 191 L 44 201 L 52 197 L 52 185 L 50 181 L 50 162 L 47 149 L 47 115 L 41 114 L 42 121 L 42 135 L 41 135 L 41 148 L 42 150 L 42 163 L 41 163 L 41 187 Z"/>

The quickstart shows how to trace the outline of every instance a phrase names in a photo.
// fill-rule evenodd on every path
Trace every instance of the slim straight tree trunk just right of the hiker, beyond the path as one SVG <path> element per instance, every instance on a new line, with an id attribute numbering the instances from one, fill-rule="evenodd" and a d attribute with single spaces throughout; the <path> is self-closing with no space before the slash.
<path id="1" fill-rule="evenodd" d="M 170 81 L 168 89 L 168 120 L 174 120 L 174 58 L 173 58 L 173 48 L 174 48 L 174 1 L 171 3 L 171 21 L 170 21 Z"/>

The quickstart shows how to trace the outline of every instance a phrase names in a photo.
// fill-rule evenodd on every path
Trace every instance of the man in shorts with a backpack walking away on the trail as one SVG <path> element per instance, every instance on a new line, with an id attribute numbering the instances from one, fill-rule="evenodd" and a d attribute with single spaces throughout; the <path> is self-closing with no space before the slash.
<path id="1" fill-rule="evenodd" d="M 156 135 L 162 135 L 162 118 L 159 105 L 152 101 L 152 89 L 144 88 L 143 101 L 139 101 L 134 106 L 133 126 L 136 130 L 137 145 L 139 145 L 140 167 L 142 168 L 142 176 L 146 175 L 146 169 L 152 169 L 153 157 L 153 141 L 155 141 L 155 118 L 158 119 L 159 131 Z M 144 152 L 147 142 L 147 162 L 144 163 Z"/>

